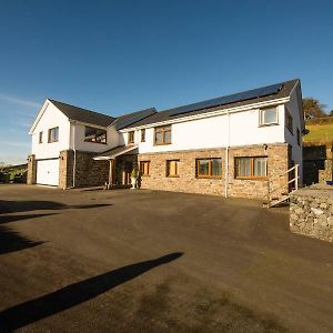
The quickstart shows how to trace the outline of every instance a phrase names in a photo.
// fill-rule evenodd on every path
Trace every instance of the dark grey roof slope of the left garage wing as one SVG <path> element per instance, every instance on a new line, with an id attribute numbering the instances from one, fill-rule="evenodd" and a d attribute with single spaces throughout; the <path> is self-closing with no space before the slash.
<path id="1" fill-rule="evenodd" d="M 65 117 L 100 127 L 110 125 L 115 118 L 49 99 Z"/>

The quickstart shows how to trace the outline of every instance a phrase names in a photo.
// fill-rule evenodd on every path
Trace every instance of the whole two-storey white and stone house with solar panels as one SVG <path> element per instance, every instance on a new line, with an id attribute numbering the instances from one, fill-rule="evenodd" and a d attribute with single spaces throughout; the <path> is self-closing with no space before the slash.
<path id="1" fill-rule="evenodd" d="M 48 99 L 28 182 L 122 186 L 134 168 L 143 189 L 266 198 L 291 190 L 295 164 L 302 183 L 303 130 L 300 80 L 119 118 Z"/>

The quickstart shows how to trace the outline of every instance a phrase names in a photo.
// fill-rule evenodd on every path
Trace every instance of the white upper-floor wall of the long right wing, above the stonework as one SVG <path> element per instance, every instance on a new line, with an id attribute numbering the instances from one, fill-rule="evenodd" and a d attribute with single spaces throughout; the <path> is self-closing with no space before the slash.
<path id="1" fill-rule="evenodd" d="M 259 112 L 255 109 L 174 123 L 172 143 L 167 145 L 154 145 L 154 128 L 145 129 L 145 142 L 140 142 L 140 130 L 138 130 L 135 143 L 139 143 L 139 153 L 147 153 L 284 142 L 284 107 L 278 107 L 278 125 L 260 127 Z M 228 117 L 230 117 L 230 139 Z M 127 143 L 127 133 L 124 139 Z"/>

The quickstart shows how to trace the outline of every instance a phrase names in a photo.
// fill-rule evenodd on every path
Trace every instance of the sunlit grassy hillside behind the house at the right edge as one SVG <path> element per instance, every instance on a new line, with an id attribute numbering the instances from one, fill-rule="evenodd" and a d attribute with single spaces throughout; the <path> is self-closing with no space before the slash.
<path id="1" fill-rule="evenodd" d="M 333 142 L 333 117 L 311 119 L 305 122 L 309 131 L 303 135 L 304 145 L 319 145 Z"/>

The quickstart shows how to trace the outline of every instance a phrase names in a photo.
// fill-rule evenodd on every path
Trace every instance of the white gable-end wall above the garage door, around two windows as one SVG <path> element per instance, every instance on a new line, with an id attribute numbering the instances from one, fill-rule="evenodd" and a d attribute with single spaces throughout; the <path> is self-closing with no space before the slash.
<path id="1" fill-rule="evenodd" d="M 49 129 L 59 127 L 59 141 L 48 143 Z M 43 132 L 43 142 L 39 143 L 39 132 Z M 31 135 L 31 153 L 36 159 L 59 158 L 59 152 L 69 149 L 70 122 L 52 103 L 49 103 Z"/>

